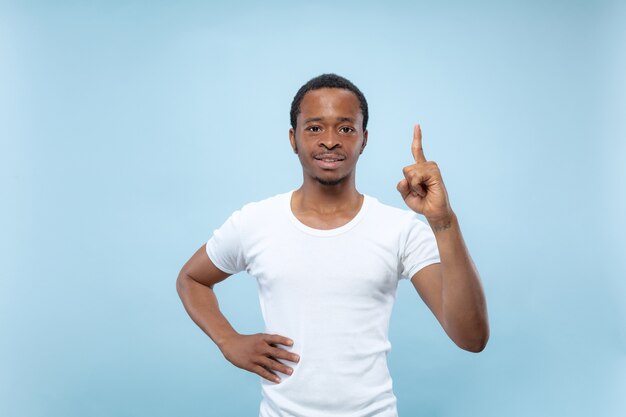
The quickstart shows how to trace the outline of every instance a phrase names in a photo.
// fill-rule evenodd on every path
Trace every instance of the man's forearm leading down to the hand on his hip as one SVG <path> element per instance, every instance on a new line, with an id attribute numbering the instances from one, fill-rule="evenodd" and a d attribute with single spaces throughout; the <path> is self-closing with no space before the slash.
<path id="1" fill-rule="evenodd" d="M 176 280 L 176 290 L 191 319 L 220 349 L 226 339 L 237 334 L 220 311 L 211 287 L 181 272 Z"/>

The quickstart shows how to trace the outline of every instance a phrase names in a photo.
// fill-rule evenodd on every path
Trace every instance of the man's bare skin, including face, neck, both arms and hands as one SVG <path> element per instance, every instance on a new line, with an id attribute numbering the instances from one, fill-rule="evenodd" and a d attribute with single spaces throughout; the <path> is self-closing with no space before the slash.
<path id="1" fill-rule="evenodd" d="M 355 186 L 356 164 L 367 145 L 358 98 L 350 91 L 322 88 L 308 92 L 300 105 L 289 141 L 302 165 L 303 183 L 293 193 L 291 209 L 304 224 L 333 229 L 348 223 L 361 208 Z M 440 264 L 421 269 L 411 282 L 449 337 L 461 348 L 481 351 L 489 338 L 485 297 L 437 165 L 422 149 L 415 126 L 414 163 L 403 169 L 397 189 L 409 208 L 423 214 L 435 233 Z M 237 333 L 222 315 L 213 291 L 228 278 L 209 259 L 204 245 L 185 263 L 176 287 L 193 321 L 216 343 L 233 365 L 280 382 L 276 372 L 293 369 L 276 359 L 296 363 L 288 335 Z"/>

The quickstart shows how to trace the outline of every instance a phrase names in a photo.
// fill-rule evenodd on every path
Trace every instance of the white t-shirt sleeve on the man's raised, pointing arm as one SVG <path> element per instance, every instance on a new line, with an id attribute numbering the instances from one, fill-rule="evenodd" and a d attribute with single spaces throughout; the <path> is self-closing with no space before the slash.
<path id="1" fill-rule="evenodd" d="M 420 269 L 438 263 L 440 259 L 432 229 L 415 214 L 407 223 L 408 232 L 400 248 L 400 276 L 411 279 Z"/>

